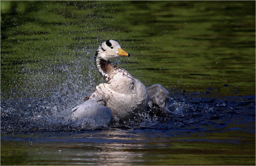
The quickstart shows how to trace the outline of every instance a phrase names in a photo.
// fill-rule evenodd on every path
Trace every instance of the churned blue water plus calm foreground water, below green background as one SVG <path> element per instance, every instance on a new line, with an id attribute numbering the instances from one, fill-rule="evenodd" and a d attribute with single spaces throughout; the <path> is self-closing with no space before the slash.
<path id="1" fill-rule="evenodd" d="M 78 101 L 68 90 L 55 98 L 2 98 L 1 163 L 254 165 L 255 95 L 169 91 L 165 117 L 145 113 L 100 127 L 69 121 L 69 108 Z"/>

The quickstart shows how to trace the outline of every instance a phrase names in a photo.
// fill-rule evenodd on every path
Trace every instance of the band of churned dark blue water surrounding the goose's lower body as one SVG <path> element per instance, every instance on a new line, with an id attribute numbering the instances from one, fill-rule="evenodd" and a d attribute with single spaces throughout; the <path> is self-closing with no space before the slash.
<path id="1" fill-rule="evenodd" d="M 90 122 L 69 121 L 72 113 L 69 95 L 56 98 L 1 100 L 1 133 L 31 131 L 87 131 L 127 127 L 134 129 L 168 129 L 174 133 L 242 130 L 255 133 L 255 96 L 219 97 L 214 92 L 190 93 L 169 90 L 165 117 L 145 113 L 141 118 L 110 126 L 96 127 Z M 68 93 L 67 91 L 65 92 Z M 218 97 L 218 98 L 216 98 Z M 71 106 L 70 106 L 71 105 Z M 73 103 L 73 105 L 75 105 Z"/>

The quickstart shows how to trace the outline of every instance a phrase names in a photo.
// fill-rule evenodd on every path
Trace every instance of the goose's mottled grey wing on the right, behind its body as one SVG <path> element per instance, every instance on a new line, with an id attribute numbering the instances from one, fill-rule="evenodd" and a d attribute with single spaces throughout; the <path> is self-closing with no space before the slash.
<path id="1" fill-rule="evenodd" d="M 169 92 L 160 84 L 154 84 L 147 88 L 149 101 L 148 106 L 167 110 L 165 104 L 169 100 Z"/>

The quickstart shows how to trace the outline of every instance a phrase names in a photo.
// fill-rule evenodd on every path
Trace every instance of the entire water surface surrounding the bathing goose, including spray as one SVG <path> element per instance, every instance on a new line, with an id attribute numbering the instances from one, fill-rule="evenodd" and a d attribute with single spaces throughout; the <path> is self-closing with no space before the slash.
<path id="1" fill-rule="evenodd" d="M 1 165 L 255 165 L 255 2 L 11 5 L 1 8 Z M 168 89 L 166 117 L 70 121 L 104 82 L 93 55 L 106 39 L 132 55 L 112 63 Z"/>

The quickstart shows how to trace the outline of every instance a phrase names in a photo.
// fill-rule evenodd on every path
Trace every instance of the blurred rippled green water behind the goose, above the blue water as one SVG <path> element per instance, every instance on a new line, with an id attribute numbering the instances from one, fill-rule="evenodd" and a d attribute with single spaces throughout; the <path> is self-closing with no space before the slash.
<path id="1" fill-rule="evenodd" d="M 1 1 L 2 94 L 46 95 L 77 58 L 103 82 L 88 64 L 107 39 L 132 55 L 114 62 L 146 86 L 255 94 L 254 1 Z"/>

